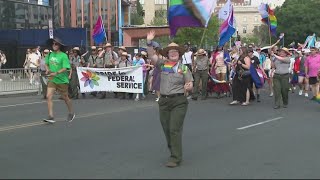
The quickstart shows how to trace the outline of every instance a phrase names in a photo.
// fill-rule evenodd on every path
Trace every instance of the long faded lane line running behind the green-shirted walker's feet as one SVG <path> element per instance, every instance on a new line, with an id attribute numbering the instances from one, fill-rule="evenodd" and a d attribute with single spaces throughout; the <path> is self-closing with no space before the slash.
<path id="1" fill-rule="evenodd" d="M 88 117 L 93 117 L 93 116 L 101 116 L 101 115 L 112 114 L 112 113 L 120 113 L 120 112 L 124 112 L 124 111 L 131 110 L 131 109 L 147 108 L 147 107 L 153 107 L 153 106 L 154 105 L 125 107 L 125 108 L 114 109 L 114 110 L 109 111 L 109 112 L 88 113 L 88 114 L 83 114 L 83 115 L 79 115 L 79 116 L 76 115 L 74 121 L 76 121 L 77 119 L 81 119 L 81 118 L 88 118 Z M 66 122 L 66 123 L 68 123 L 65 118 L 57 118 L 57 119 L 55 119 L 55 121 L 56 122 Z M 27 128 L 27 127 L 40 126 L 40 125 L 45 125 L 45 124 L 49 125 L 49 123 L 46 123 L 46 122 L 34 121 L 34 122 L 31 122 L 31 123 L 25 123 L 25 124 L 13 125 L 13 126 L 4 126 L 4 127 L 0 127 L 0 132 L 9 131 L 9 130 L 15 130 L 15 129 L 21 129 L 21 128 Z"/>

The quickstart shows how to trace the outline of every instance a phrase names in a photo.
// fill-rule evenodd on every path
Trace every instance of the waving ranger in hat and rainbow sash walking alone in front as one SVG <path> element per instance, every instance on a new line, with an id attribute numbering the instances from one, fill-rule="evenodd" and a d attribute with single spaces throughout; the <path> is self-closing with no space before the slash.
<path id="1" fill-rule="evenodd" d="M 147 35 L 148 48 L 152 48 L 155 32 Z M 170 150 L 167 167 L 174 168 L 182 161 L 182 129 L 188 109 L 188 100 L 184 92 L 191 91 L 193 78 L 186 65 L 181 63 L 184 48 L 170 43 L 161 51 L 168 59 L 158 59 L 156 65 L 161 69 L 159 113 L 160 121 Z"/>

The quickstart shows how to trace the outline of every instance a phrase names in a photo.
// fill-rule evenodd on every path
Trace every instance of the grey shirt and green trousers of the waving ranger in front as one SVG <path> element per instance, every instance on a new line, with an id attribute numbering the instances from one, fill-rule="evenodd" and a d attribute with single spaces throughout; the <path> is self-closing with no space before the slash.
<path id="1" fill-rule="evenodd" d="M 172 70 L 168 71 L 168 63 Z M 182 129 L 188 108 L 184 96 L 184 85 L 193 81 L 192 74 L 181 62 L 158 60 L 161 69 L 159 113 L 160 121 L 170 150 L 169 162 L 179 164 L 182 161 Z"/>

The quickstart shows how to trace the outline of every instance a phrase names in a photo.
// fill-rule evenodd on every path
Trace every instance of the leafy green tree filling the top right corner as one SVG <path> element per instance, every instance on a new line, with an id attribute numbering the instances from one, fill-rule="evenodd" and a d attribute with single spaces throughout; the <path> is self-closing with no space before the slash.
<path id="1" fill-rule="evenodd" d="M 287 0 L 275 10 L 277 31 L 285 33 L 285 45 L 304 43 L 307 36 L 320 34 L 319 7 L 319 0 Z"/>

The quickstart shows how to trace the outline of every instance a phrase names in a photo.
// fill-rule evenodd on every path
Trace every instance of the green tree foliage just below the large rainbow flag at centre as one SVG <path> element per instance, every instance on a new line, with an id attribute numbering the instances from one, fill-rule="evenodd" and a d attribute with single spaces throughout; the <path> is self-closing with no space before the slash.
<path id="1" fill-rule="evenodd" d="M 204 32 L 205 28 L 180 28 L 173 41 L 180 45 L 190 42 L 192 46 L 199 47 L 204 34 L 200 47 L 216 46 L 219 40 L 219 21 L 216 16 L 211 17 L 206 29 Z"/>

